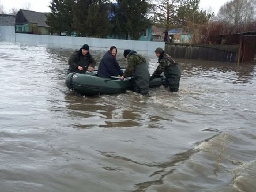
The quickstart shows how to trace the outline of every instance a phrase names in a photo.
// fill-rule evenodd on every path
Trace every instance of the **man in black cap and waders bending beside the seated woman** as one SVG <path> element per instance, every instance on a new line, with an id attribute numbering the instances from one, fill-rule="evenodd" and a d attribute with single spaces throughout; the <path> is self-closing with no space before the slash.
<path id="1" fill-rule="evenodd" d="M 149 78 L 148 64 L 146 59 L 136 51 L 124 50 L 124 57 L 127 58 L 128 65 L 124 72 L 124 77 L 134 77 L 134 91 L 149 97 Z"/>

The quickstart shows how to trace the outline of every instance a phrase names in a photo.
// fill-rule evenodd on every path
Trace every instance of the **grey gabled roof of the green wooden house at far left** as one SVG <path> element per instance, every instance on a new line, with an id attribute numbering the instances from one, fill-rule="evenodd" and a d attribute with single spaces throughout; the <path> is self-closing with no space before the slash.
<path id="1" fill-rule="evenodd" d="M 40 13 L 30 10 L 20 9 L 16 15 L 16 24 L 18 23 L 37 23 L 40 27 L 49 27 L 45 21 L 49 13 Z"/>

